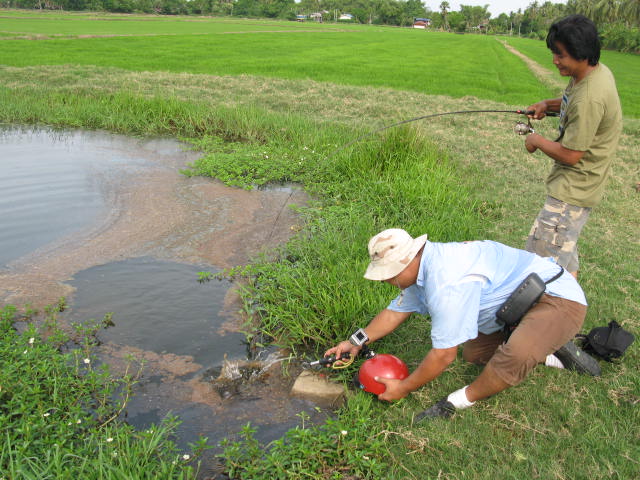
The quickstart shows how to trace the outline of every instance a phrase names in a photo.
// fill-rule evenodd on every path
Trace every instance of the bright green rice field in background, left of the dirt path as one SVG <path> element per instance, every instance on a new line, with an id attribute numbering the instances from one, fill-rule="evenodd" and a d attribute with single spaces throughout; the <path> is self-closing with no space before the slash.
<path id="1" fill-rule="evenodd" d="M 145 29 L 163 31 L 164 22 L 147 24 Z M 551 95 L 493 37 L 413 29 L 5 40 L 2 47 L 2 63 L 9 66 L 75 64 L 132 71 L 312 78 L 433 95 L 498 98 L 522 106 L 531 98 Z M 456 52 L 455 61 L 450 51 Z"/>

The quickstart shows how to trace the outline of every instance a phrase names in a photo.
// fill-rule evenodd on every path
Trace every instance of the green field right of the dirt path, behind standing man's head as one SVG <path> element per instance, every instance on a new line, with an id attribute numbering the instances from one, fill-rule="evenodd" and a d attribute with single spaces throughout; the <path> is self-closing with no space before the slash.
<path id="1" fill-rule="evenodd" d="M 520 52 L 553 71 L 557 78 L 563 78 L 553 65 L 551 52 L 545 42 L 526 38 L 504 38 Z M 640 92 L 636 85 L 640 84 L 640 55 L 603 50 L 600 61 L 609 67 L 616 77 L 624 115 L 639 118 Z"/>

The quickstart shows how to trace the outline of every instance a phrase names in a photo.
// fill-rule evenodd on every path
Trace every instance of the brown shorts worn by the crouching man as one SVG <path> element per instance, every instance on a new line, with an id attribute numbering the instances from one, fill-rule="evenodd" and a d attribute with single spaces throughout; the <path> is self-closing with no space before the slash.
<path id="1" fill-rule="evenodd" d="M 580 331 L 586 314 L 585 305 L 544 294 L 506 343 L 501 331 L 480 333 L 464 344 L 462 356 L 468 362 L 486 364 L 504 382 L 517 385 Z"/>

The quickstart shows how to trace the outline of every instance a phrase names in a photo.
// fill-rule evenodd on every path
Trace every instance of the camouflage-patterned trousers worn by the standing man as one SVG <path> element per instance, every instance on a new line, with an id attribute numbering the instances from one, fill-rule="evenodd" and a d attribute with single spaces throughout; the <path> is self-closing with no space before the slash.
<path id="1" fill-rule="evenodd" d="M 590 213 L 591 208 L 570 205 L 548 196 L 533 222 L 526 249 L 542 257 L 553 257 L 569 272 L 577 272 L 578 237 Z"/>

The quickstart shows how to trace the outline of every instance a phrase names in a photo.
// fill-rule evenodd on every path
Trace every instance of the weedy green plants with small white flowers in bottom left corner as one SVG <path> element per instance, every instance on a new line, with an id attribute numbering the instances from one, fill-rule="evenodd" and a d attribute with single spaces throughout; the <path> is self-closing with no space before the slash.
<path id="1" fill-rule="evenodd" d="M 42 314 L 0 309 L 2 478 L 193 478 L 193 453 L 179 453 L 170 440 L 177 419 L 144 432 L 123 422 L 136 372 L 113 378 L 96 364 L 95 330 L 63 332 L 57 326 L 63 308 L 61 300 Z M 195 443 L 198 453 L 204 443 Z"/>

